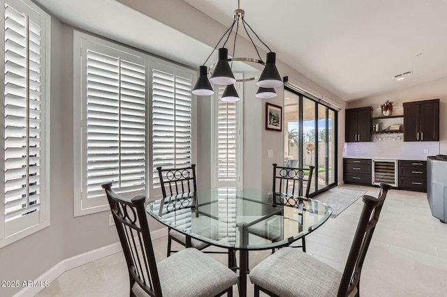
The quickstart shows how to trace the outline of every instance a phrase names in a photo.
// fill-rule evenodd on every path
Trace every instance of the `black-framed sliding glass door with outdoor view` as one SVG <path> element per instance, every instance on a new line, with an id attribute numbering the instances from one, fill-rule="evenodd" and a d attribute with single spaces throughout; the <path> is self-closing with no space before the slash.
<path id="1" fill-rule="evenodd" d="M 337 181 L 337 111 L 288 89 L 284 98 L 284 165 L 315 167 L 314 196 Z"/>

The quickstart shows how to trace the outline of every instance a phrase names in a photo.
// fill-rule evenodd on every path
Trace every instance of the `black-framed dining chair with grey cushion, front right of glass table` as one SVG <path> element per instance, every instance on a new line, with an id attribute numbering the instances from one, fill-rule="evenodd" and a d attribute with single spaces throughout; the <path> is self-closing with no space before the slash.
<path id="1" fill-rule="evenodd" d="M 359 296 L 362 265 L 391 188 L 383 183 L 380 187 L 378 198 L 363 196 L 362 213 L 343 273 L 305 252 L 282 248 L 251 270 L 254 296 L 258 297 L 259 291 L 270 296 Z"/>

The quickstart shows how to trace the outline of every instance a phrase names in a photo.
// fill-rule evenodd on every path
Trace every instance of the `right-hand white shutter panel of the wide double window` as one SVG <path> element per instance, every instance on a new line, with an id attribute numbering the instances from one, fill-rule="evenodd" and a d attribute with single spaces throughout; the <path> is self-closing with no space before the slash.
<path id="1" fill-rule="evenodd" d="M 152 70 L 153 188 L 159 188 L 156 167 L 186 167 L 192 158 L 191 77 L 175 68 Z"/>

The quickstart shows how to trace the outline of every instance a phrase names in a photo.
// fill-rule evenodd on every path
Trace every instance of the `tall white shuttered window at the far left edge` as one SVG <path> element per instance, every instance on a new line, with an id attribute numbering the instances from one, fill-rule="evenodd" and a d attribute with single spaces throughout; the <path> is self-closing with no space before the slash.
<path id="1" fill-rule="evenodd" d="M 46 215 L 45 20 L 24 3 L 8 1 L 4 4 L 4 25 L 5 229 L 1 234 L 6 237 L 43 222 Z"/>

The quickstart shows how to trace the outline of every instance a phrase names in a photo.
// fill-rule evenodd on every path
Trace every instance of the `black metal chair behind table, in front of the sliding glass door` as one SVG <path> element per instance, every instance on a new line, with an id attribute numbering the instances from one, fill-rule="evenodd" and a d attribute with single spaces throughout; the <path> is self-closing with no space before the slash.
<path id="1" fill-rule="evenodd" d="M 309 166 L 309 168 L 280 167 L 274 163 L 272 191 L 280 195 L 308 198 L 314 168 L 314 166 Z M 302 236 L 301 243 L 301 245 L 293 245 L 292 248 L 302 248 L 302 251 L 306 252 L 305 236 Z"/>

